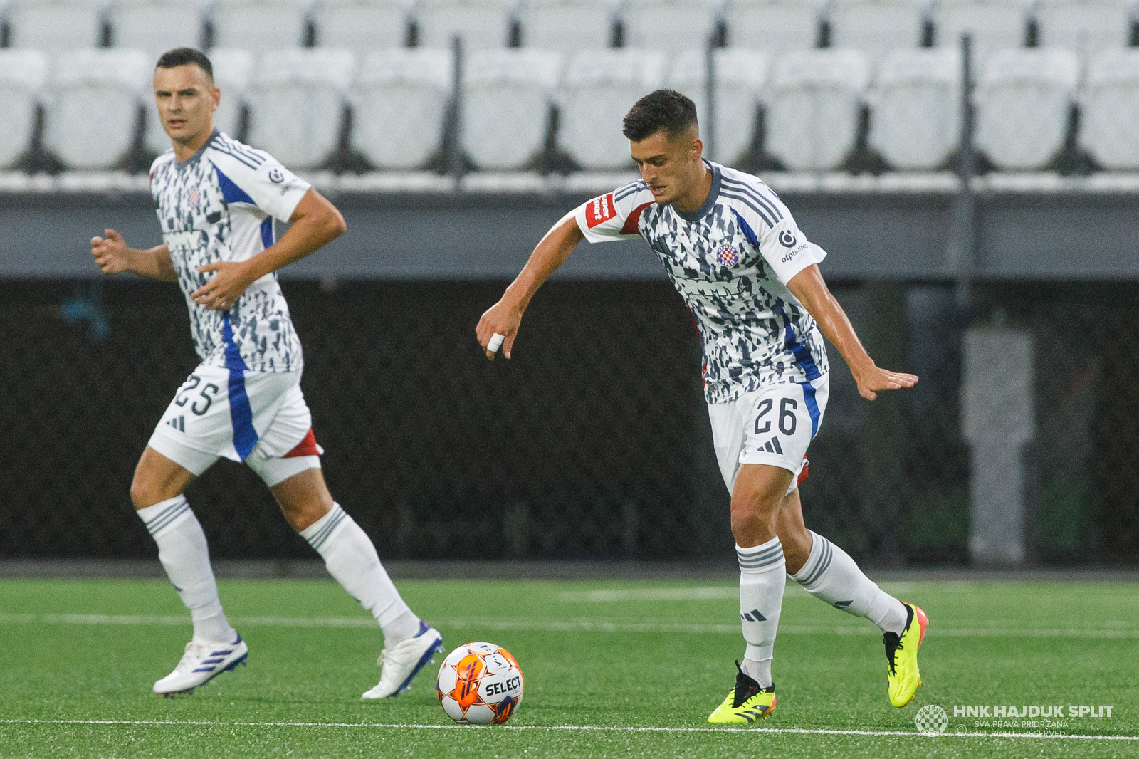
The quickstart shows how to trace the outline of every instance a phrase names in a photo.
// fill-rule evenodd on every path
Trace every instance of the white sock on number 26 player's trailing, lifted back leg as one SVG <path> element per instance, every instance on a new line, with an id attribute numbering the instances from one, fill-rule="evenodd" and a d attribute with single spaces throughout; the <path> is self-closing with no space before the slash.
<path id="1" fill-rule="evenodd" d="M 811 532 L 811 555 L 790 579 L 835 609 L 866 617 L 883 632 L 901 635 L 906 627 L 902 602 L 879 588 L 845 550 L 821 534 Z"/>

